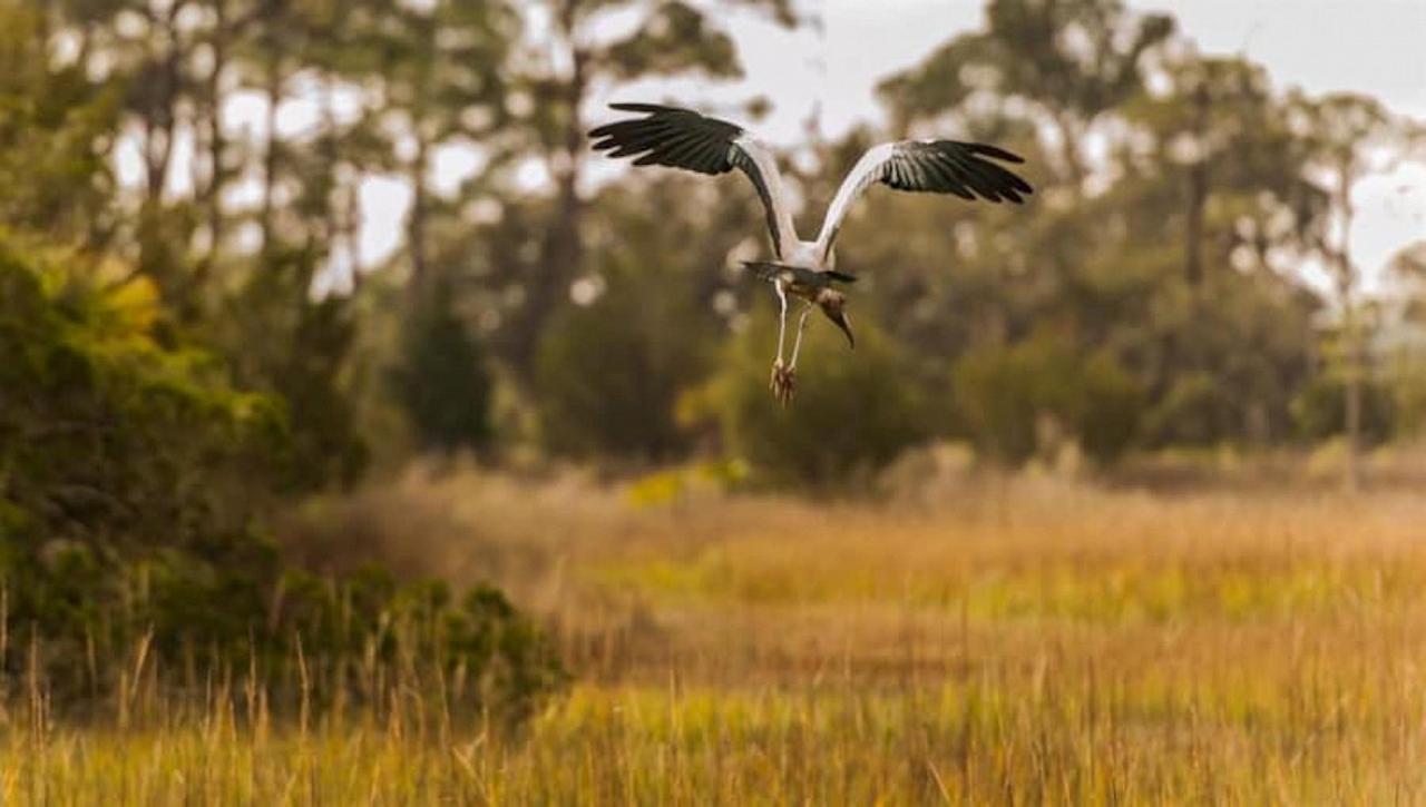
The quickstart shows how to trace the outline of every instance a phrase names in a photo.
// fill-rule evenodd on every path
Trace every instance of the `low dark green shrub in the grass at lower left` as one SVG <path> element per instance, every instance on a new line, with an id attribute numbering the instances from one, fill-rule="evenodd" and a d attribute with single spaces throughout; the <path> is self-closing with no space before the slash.
<path id="1" fill-rule="evenodd" d="M 39 667 L 56 706 L 77 714 L 133 686 L 123 664 L 96 659 L 135 647 L 190 687 L 220 677 L 261 687 L 284 716 L 338 697 L 379 701 L 378 682 L 406 676 L 445 689 L 452 711 L 519 721 L 566 682 L 546 634 L 496 589 L 456 597 L 438 580 L 401 583 L 381 569 L 318 577 L 279 572 L 274 557 L 220 566 L 164 553 L 114 566 L 68 548 L 31 566 L 7 560 L 14 640 L 0 672 Z"/>

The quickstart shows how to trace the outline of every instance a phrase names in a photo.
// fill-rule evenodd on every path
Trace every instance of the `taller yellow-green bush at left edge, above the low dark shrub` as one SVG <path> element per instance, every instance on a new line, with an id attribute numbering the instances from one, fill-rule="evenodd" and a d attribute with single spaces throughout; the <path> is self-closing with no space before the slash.
<path id="1" fill-rule="evenodd" d="M 230 388 L 210 354 L 160 342 L 145 281 L 98 289 L 76 258 L 21 248 L 0 235 L 0 498 L 29 550 L 245 535 L 254 480 L 279 472 L 281 406 Z"/>

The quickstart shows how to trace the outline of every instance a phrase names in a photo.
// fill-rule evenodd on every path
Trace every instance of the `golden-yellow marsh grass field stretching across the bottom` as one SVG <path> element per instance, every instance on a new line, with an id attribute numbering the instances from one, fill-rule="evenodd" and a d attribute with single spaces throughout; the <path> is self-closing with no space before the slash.
<path id="1" fill-rule="evenodd" d="M 456 473 L 291 528 L 543 615 L 576 683 L 515 734 L 401 682 L 307 720 L 160 687 L 123 727 L 10 682 L 0 801 L 1426 801 L 1409 490 L 647 499 Z"/>

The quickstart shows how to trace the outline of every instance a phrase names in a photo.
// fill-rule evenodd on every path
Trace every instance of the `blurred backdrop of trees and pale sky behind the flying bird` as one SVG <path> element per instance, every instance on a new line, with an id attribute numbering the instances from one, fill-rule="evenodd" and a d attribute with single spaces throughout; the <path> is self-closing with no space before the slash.
<path id="1" fill-rule="evenodd" d="M 271 404 L 294 493 L 462 453 L 863 488 L 933 442 L 1335 441 L 1353 483 L 1426 406 L 1426 11 L 1326 71 L 1359 14 L 1318 6 L 1195 6 L 1205 46 L 1152 3 L 11 1 L 7 240 Z M 766 130 L 804 231 L 888 137 L 1002 144 L 1040 194 L 873 194 L 867 349 L 816 328 L 780 412 L 756 197 L 595 160 L 615 100 Z"/>

